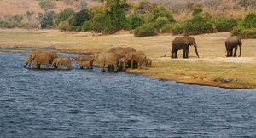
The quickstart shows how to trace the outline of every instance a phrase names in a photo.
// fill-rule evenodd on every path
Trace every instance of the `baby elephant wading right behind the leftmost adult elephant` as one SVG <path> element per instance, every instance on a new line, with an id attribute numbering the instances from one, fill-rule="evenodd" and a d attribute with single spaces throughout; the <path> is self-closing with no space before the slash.
<path id="1" fill-rule="evenodd" d="M 72 69 L 71 60 L 68 57 L 55 58 L 52 66 L 57 66 L 58 69 L 61 69 L 61 66 L 67 66 L 69 70 Z"/>

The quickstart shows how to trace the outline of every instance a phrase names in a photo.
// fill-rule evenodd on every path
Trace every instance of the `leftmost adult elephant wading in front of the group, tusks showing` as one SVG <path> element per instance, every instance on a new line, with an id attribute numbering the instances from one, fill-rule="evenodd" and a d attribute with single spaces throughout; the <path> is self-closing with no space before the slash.
<path id="1" fill-rule="evenodd" d="M 24 67 L 27 65 L 31 66 L 32 61 L 34 61 L 32 68 L 40 68 L 41 64 L 44 64 L 46 68 L 49 68 L 49 65 L 52 64 L 53 59 L 57 57 L 58 55 L 55 51 L 35 50 L 32 51 L 31 55 L 28 56 Z"/>

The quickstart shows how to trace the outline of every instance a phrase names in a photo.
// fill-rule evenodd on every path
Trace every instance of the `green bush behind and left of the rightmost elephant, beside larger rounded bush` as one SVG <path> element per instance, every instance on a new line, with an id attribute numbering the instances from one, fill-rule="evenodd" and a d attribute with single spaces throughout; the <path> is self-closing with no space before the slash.
<path id="1" fill-rule="evenodd" d="M 218 32 L 230 32 L 237 25 L 237 20 L 228 18 L 219 18 L 216 21 L 216 29 Z"/>

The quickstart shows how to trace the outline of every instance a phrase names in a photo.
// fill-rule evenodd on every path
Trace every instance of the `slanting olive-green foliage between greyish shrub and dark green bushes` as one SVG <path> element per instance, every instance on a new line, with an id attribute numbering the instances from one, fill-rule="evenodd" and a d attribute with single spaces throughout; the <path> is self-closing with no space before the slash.
<path id="1" fill-rule="evenodd" d="M 70 8 L 64 9 L 63 11 L 61 11 L 59 14 L 56 15 L 55 25 L 58 26 L 61 21 L 65 21 L 75 14 L 76 12 L 73 9 L 70 9 Z"/>

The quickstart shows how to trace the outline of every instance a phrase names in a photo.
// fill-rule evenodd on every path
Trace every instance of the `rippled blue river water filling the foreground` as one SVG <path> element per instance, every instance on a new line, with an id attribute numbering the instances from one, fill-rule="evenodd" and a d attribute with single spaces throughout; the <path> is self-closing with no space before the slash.
<path id="1" fill-rule="evenodd" d="M 0 137 L 256 137 L 256 90 L 99 69 L 32 70 L 0 53 Z"/>

